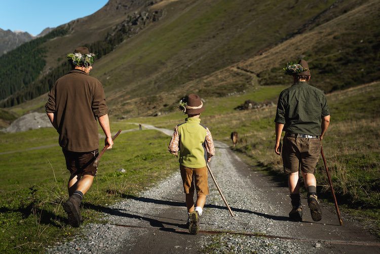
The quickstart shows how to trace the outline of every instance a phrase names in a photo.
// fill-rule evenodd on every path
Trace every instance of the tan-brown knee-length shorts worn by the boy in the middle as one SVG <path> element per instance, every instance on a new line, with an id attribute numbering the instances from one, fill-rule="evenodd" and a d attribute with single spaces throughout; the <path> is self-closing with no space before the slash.
<path id="1" fill-rule="evenodd" d="M 181 170 L 183 190 L 185 194 L 194 193 L 194 185 L 197 195 L 208 195 L 207 168 L 187 168 L 179 166 Z M 194 179 L 194 180 L 193 180 Z"/>

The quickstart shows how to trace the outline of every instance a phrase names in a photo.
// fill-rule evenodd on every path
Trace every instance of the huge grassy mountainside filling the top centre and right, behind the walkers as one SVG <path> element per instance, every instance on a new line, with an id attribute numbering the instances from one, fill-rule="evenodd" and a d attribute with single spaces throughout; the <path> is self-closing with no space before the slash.
<path id="1" fill-rule="evenodd" d="M 189 92 L 217 97 L 288 84 L 282 67 L 299 58 L 310 62 L 311 84 L 329 92 L 378 80 L 379 7 L 374 0 L 109 1 L 44 44 L 44 73 L 62 69 L 79 45 L 117 40 L 91 72 L 116 117 L 168 112 Z M 34 85 L 47 91 L 54 79 Z M 36 101 L 33 108 L 43 105 Z"/>

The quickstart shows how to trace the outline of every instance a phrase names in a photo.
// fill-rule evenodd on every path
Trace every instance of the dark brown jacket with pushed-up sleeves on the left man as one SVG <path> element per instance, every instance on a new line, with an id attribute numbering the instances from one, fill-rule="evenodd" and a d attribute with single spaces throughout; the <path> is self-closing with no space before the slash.
<path id="1" fill-rule="evenodd" d="M 102 84 L 73 69 L 55 82 L 48 96 L 45 108 L 47 113 L 54 113 L 59 145 L 72 152 L 98 149 L 96 117 L 108 114 Z"/>

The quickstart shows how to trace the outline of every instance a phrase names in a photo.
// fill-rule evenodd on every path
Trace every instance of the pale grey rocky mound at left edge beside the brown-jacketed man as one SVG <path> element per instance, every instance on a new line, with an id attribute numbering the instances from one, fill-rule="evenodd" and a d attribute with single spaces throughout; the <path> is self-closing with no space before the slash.
<path id="1" fill-rule="evenodd" d="M 12 122 L 10 126 L 3 129 L 4 132 L 14 133 L 20 131 L 34 130 L 53 127 L 46 113 L 26 114 Z"/>

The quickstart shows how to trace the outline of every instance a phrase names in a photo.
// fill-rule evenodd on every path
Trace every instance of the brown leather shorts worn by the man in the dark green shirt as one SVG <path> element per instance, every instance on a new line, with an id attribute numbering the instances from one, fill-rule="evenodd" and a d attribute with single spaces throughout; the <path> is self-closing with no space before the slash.
<path id="1" fill-rule="evenodd" d="M 282 161 L 286 173 L 299 169 L 304 173 L 314 174 L 321 153 L 319 138 L 289 137 L 283 139 Z"/>

